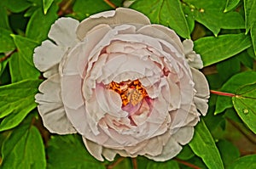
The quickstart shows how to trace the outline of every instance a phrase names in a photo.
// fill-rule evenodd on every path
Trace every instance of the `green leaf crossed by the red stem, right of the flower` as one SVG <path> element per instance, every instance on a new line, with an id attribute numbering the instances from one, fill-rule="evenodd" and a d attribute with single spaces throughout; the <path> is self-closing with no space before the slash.
<path id="1" fill-rule="evenodd" d="M 225 93 L 236 93 L 236 90 L 239 87 L 244 86 L 245 84 L 253 83 L 256 79 L 255 71 L 245 71 L 235 76 L 232 76 L 229 81 L 225 82 L 223 87 L 221 87 L 220 91 Z M 233 107 L 231 97 L 227 96 L 218 96 L 216 102 L 216 110 L 214 112 L 215 115 L 224 112 L 225 109 Z"/>

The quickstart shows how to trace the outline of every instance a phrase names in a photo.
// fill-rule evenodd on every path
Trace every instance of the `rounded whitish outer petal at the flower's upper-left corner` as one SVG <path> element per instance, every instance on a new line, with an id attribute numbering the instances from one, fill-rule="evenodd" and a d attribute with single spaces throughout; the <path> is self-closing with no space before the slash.
<path id="1" fill-rule="evenodd" d="M 60 18 L 51 25 L 48 37 L 61 47 L 73 47 L 73 45 L 79 42 L 76 35 L 78 26 L 78 20 L 72 18 Z"/>

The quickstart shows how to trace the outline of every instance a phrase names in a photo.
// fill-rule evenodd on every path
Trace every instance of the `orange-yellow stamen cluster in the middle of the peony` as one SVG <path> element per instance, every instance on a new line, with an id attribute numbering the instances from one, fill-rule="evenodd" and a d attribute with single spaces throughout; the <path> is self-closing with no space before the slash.
<path id="1" fill-rule="evenodd" d="M 146 89 L 139 80 L 119 83 L 111 82 L 108 88 L 119 93 L 123 107 L 129 103 L 135 106 L 148 96 Z"/>

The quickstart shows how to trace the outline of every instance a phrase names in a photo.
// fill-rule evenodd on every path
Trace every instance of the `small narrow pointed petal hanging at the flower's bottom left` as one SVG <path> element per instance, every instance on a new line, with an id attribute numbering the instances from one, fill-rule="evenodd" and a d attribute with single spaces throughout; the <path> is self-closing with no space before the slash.
<path id="1" fill-rule="evenodd" d="M 98 161 L 104 161 L 102 157 L 102 145 L 96 144 L 84 137 L 83 141 L 86 149 L 90 152 L 90 155 L 93 155 Z"/>

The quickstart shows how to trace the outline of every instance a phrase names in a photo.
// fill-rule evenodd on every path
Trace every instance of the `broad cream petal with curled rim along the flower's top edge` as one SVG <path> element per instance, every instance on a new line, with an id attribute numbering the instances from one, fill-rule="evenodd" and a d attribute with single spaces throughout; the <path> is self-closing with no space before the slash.
<path id="1" fill-rule="evenodd" d="M 79 39 L 83 39 L 88 31 L 100 24 L 120 25 L 139 24 L 149 25 L 148 17 L 131 8 L 117 8 L 115 11 L 107 11 L 96 15 L 91 15 L 83 20 L 78 28 Z"/>

